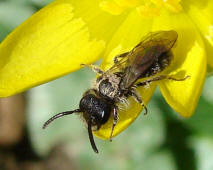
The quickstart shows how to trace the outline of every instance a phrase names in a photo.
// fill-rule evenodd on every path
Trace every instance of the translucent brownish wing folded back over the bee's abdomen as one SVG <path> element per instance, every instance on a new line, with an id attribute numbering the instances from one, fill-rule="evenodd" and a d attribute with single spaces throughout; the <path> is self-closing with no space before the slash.
<path id="1" fill-rule="evenodd" d="M 175 31 L 151 32 L 128 54 L 128 65 L 122 78 L 122 88 L 131 87 L 162 53 L 169 52 L 177 41 Z"/>

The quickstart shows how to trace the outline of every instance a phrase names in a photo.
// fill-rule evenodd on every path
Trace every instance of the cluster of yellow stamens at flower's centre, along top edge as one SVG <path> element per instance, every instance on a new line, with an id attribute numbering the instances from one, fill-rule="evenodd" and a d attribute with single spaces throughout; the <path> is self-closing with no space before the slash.
<path id="1" fill-rule="evenodd" d="M 104 0 L 100 8 L 112 15 L 120 15 L 127 9 L 136 9 L 143 17 L 155 17 L 166 8 L 170 12 L 178 13 L 182 10 L 181 0 Z"/>

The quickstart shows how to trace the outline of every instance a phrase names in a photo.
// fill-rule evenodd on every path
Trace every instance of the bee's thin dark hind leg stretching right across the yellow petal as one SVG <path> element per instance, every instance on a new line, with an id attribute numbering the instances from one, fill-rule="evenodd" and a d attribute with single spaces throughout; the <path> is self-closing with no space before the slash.
<path id="1" fill-rule="evenodd" d="M 148 79 L 148 80 L 145 80 L 145 81 L 142 81 L 142 82 L 139 82 L 137 83 L 135 86 L 136 87 L 140 87 L 140 86 L 145 86 L 153 81 L 160 81 L 160 80 L 164 80 L 164 79 L 169 79 L 169 80 L 173 80 L 173 81 L 184 81 L 186 79 L 188 79 L 190 76 L 186 76 L 184 78 L 174 78 L 174 77 L 170 77 L 170 76 L 167 76 L 167 75 L 160 75 L 160 76 L 157 76 L 157 77 L 153 77 L 151 79 Z"/>

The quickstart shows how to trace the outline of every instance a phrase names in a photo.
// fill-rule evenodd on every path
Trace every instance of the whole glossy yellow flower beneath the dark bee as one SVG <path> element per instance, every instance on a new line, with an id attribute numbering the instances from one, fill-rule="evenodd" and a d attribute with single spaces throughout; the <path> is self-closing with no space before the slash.
<path id="1" fill-rule="evenodd" d="M 213 1 L 56 0 L 16 28 L 0 44 L 0 96 L 6 97 L 80 69 L 103 58 L 109 68 L 115 55 L 131 50 L 150 31 L 175 30 L 171 75 L 190 79 L 157 82 L 168 104 L 184 117 L 193 114 L 213 67 Z M 156 84 L 139 89 L 145 103 Z M 114 136 L 133 122 L 141 106 L 130 99 L 119 112 Z M 150 108 L 151 109 L 151 108 Z M 96 136 L 108 139 L 111 120 Z"/>

